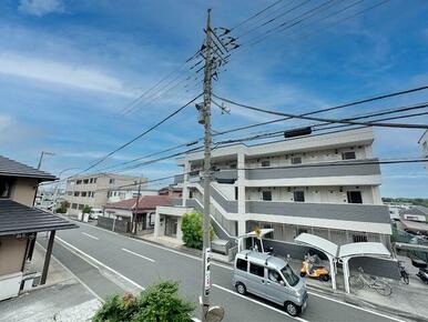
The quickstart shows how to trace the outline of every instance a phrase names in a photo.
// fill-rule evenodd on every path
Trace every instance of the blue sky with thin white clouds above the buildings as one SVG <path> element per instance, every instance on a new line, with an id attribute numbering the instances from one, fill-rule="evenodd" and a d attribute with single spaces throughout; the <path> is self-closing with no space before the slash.
<path id="1" fill-rule="evenodd" d="M 284 0 L 274 12 L 264 13 L 265 20 L 259 16 L 240 26 L 273 1 L 1 1 L 0 153 L 35 165 L 41 151 L 53 152 L 45 157 L 42 169 L 59 174 L 73 168 L 63 172 L 70 175 L 195 98 L 202 84 L 194 80 L 192 64 L 183 62 L 203 42 L 207 8 L 213 9 L 214 27 L 237 26 L 232 34 L 238 36 L 242 44 L 214 83 L 220 95 L 302 113 L 428 83 L 427 1 L 390 0 L 355 16 L 380 1 L 329 0 L 326 13 L 350 7 L 324 20 L 319 11 L 320 16 L 309 17 L 295 28 L 263 36 L 269 26 L 293 17 L 284 13 L 259 27 L 263 21 L 303 2 Z M 263 41 L 251 46 L 254 39 Z M 169 74 L 171 90 L 147 92 Z M 181 81 L 190 76 L 191 80 Z M 125 113 L 130 102 L 143 93 L 140 103 Z M 343 118 L 425 102 L 427 98 L 427 92 L 418 92 L 319 115 Z M 214 108 L 214 130 L 274 119 L 228 108 L 230 114 Z M 405 122 L 428 123 L 428 119 L 424 115 Z M 282 122 L 231 137 L 302 124 L 305 122 Z M 202 134 L 196 110 L 190 105 L 99 169 Z M 374 154 L 380 159 L 420 158 L 421 134 L 422 130 L 376 128 Z M 156 179 L 180 171 L 174 159 L 166 159 L 124 174 Z M 421 164 L 381 165 L 381 171 L 383 197 L 428 198 L 428 171 Z"/>

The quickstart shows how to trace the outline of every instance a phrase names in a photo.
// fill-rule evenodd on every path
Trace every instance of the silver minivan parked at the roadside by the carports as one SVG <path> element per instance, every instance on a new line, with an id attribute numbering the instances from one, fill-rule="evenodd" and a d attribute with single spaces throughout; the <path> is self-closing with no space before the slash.
<path id="1" fill-rule="evenodd" d="M 232 284 L 242 295 L 248 292 L 283 305 L 292 316 L 306 309 L 305 281 L 286 261 L 266 253 L 248 250 L 237 253 Z"/>

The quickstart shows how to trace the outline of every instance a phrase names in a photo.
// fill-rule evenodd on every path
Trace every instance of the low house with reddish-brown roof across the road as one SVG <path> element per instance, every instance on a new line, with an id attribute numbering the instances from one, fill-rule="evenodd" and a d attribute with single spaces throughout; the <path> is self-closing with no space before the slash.
<path id="1" fill-rule="evenodd" d="M 172 205 L 171 202 L 169 195 L 141 195 L 109 203 L 103 215 L 99 217 L 98 225 L 121 232 L 145 233 L 154 228 L 156 207 Z"/>

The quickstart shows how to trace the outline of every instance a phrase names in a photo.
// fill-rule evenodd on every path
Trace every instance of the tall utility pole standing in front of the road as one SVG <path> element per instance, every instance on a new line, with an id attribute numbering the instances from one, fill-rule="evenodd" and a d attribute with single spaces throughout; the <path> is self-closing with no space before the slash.
<path id="1" fill-rule="evenodd" d="M 204 220 L 203 220 L 203 264 L 202 264 L 202 321 L 206 321 L 206 313 L 210 309 L 210 198 L 211 198 L 211 78 L 212 78 L 212 30 L 211 30 L 211 9 L 206 18 L 206 38 L 205 38 L 205 70 L 204 70 Z"/>

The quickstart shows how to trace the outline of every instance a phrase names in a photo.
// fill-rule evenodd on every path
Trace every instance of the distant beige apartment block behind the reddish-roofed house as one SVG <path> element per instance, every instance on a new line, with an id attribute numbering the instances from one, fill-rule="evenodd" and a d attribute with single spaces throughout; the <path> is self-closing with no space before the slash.
<path id="1" fill-rule="evenodd" d="M 118 191 L 129 184 L 137 184 L 140 178 L 112 173 L 95 173 L 72 177 L 67 181 L 64 199 L 70 203 L 68 214 L 78 215 L 89 205 L 102 209 L 111 191 Z M 142 179 L 143 185 L 146 179 Z"/>

